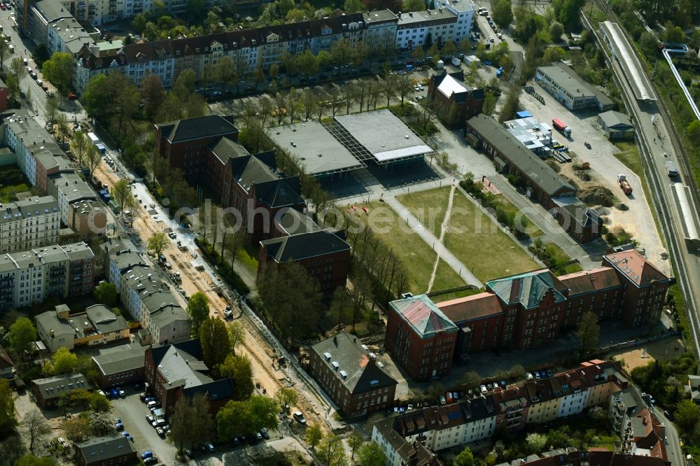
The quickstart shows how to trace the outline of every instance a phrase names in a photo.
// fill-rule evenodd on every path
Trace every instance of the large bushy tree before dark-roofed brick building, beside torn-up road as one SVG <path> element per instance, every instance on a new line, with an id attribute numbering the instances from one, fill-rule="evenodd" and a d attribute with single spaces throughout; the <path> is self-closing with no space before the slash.
<path id="1" fill-rule="evenodd" d="M 299 264 L 265 267 L 258 278 L 258 294 L 287 337 L 302 336 L 316 326 L 321 289 Z"/>

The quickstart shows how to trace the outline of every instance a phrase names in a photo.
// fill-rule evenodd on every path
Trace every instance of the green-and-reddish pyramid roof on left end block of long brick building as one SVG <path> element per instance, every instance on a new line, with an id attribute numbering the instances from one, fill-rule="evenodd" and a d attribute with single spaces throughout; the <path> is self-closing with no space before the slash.
<path id="1" fill-rule="evenodd" d="M 458 330 L 427 295 L 397 299 L 390 304 L 421 338 L 431 338 L 440 333 Z"/>

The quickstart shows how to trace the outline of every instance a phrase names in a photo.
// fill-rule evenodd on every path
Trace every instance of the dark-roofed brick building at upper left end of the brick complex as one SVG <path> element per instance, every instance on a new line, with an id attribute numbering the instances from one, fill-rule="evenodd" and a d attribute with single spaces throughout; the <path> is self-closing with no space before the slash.
<path id="1" fill-rule="evenodd" d="M 233 116 L 206 115 L 155 125 L 155 151 L 171 168 L 181 169 L 188 181 L 205 178 L 209 144 L 221 137 L 236 141 Z"/>

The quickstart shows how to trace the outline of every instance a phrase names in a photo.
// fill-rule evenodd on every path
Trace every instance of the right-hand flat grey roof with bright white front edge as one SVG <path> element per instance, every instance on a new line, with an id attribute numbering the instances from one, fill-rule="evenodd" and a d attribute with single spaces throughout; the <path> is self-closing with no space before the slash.
<path id="1" fill-rule="evenodd" d="M 335 121 L 378 162 L 433 152 L 433 148 L 388 110 L 341 115 Z"/>

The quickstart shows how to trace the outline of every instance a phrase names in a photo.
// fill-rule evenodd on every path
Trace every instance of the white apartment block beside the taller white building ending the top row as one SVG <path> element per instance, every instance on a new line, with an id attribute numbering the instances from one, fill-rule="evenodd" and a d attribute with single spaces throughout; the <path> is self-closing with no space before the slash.
<path id="1" fill-rule="evenodd" d="M 452 41 L 457 27 L 457 15 L 447 8 L 412 11 L 398 14 L 396 48 L 413 50 Z"/>

